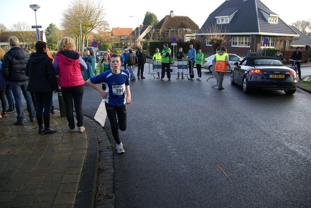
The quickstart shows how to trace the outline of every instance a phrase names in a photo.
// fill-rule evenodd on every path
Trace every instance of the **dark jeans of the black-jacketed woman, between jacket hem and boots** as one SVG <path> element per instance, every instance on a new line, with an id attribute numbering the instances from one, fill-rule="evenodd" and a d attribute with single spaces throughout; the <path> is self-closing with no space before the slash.
<path id="1" fill-rule="evenodd" d="M 44 114 L 51 113 L 53 92 L 35 92 L 35 101 L 37 103 L 36 114 L 40 115 L 43 112 Z"/>

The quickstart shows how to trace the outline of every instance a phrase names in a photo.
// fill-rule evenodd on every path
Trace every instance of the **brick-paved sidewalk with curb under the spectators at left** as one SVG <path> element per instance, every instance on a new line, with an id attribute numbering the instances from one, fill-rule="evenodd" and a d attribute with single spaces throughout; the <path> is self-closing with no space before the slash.
<path id="1" fill-rule="evenodd" d="M 103 128 L 85 117 L 86 131 L 70 133 L 67 119 L 56 111 L 51 127 L 57 133 L 39 135 L 37 123 L 24 114 L 23 126 L 13 125 L 16 113 L 0 119 L 0 207 L 94 207 L 96 132 L 104 132 Z"/>

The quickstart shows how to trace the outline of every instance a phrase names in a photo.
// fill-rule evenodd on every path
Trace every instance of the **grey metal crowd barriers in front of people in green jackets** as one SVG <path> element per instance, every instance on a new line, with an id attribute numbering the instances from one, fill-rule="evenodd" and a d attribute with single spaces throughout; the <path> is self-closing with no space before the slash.
<path id="1" fill-rule="evenodd" d="M 162 73 L 162 62 L 160 59 L 151 59 L 149 62 L 149 74 L 153 75 L 155 78 L 155 74 L 161 74 Z M 172 64 L 173 63 L 173 64 Z M 184 75 L 187 75 L 187 78 L 189 79 L 190 73 L 188 70 L 188 60 L 177 60 L 177 59 L 171 59 L 171 67 L 170 67 L 171 74 L 178 74 L 183 73 Z M 166 74 L 166 69 L 165 69 Z M 193 74 L 193 69 L 192 73 Z M 151 79 L 151 76 L 150 76 Z"/>

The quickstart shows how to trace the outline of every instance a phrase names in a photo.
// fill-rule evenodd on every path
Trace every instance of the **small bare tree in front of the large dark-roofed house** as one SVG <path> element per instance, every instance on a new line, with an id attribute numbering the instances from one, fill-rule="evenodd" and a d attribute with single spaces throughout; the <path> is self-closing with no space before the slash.
<path id="1" fill-rule="evenodd" d="M 228 29 L 226 27 L 223 27 L 222 24 L 217 24 L 216 22 L 213 22 L 202 31 L 204 34 L 206 34 L 205 37 L 209 39 L 209 43 L 210 45 L 212 45 L 215 53 L 217 53 L 217 49 L 221 45 L 228 42 L 228 35 L 226 35 Z"/>

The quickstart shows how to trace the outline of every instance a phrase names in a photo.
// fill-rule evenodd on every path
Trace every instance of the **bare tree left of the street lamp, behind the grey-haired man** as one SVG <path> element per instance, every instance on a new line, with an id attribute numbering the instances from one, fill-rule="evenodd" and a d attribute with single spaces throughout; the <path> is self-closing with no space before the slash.
<path id="1" fill-rule="evenodd" d="M 36 33 L 27 22 L 17 22 L 13 24 L 11 31 L 16 31 L 16 36 L 19 42 L 23 43 L 23 48 L 25 48 L 25 43 L 30 45 L 36 40 Z"/>

